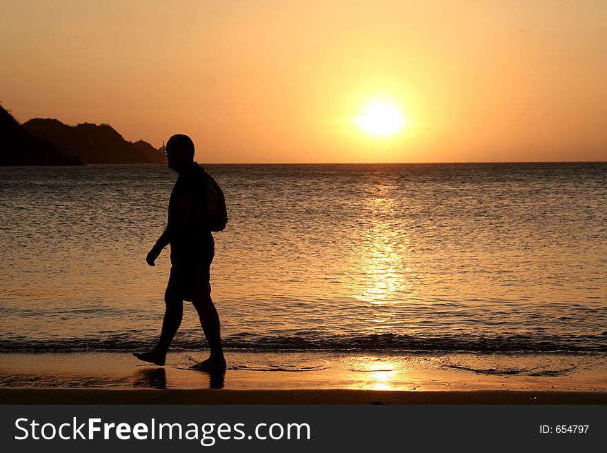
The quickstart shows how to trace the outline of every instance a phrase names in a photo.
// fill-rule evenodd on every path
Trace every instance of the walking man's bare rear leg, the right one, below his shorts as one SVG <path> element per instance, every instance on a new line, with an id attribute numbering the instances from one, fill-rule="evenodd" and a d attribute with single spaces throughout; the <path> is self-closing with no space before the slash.
<path id="1" fill-rule="evenodd" d="M 210 356 L 205 361 L 192 365 L 190 368 L 200 370 L 226 369 L 226 359 L 221 348 L 221 333 L 219 329 L 219 314 L 213 304 L 210 285 L 200 285 L 192 297 L 192 304 L 198 312 L 200 325 L 208 341 Z"/>

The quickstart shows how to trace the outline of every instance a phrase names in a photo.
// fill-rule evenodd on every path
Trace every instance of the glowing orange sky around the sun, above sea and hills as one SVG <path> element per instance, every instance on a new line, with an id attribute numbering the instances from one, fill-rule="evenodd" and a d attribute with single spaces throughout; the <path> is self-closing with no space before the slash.
<path id="1" fill-rule="evenodd" d="M 204 163 L 607 160 L 607 1 L 4 1 L 0 99 Z M 392 99 L 393 137 L 353 122 Z"/>

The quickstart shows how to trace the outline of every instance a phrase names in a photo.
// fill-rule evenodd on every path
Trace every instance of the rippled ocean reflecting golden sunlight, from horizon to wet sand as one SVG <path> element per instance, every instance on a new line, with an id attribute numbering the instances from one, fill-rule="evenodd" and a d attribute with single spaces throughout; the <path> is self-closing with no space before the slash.
<path id="1" fill-rule="evenodd" d="M 607 164 L 203 165 L 239 352 L 607 352 Z M 130 352 L 161 326 L 161 165 L 0 168 L 0 352 Z M 172 351 L 199 350 L 189 307 Z"/>

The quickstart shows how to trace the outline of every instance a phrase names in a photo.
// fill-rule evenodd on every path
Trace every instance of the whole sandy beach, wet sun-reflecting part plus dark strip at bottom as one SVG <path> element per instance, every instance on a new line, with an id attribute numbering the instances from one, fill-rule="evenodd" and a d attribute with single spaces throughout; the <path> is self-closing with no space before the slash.
<path id="1" fill-rule="evenodd" d="M 1 354 L 3 404 L 607 404 L 591 356 L 230 352 L 225 374 L 128 353 Z M 541 370 L 544 370 L 542 372 Z"/>

